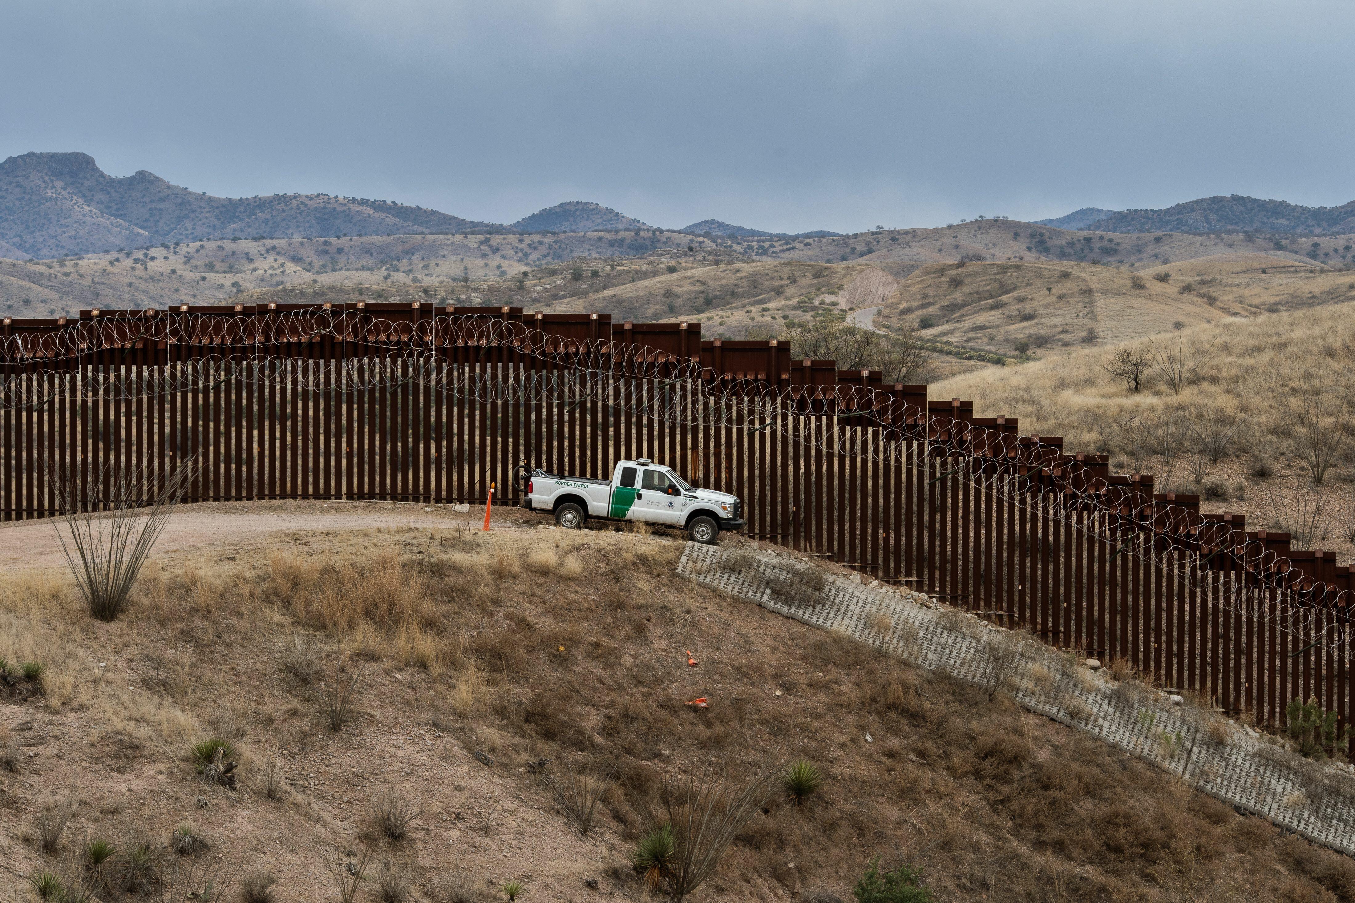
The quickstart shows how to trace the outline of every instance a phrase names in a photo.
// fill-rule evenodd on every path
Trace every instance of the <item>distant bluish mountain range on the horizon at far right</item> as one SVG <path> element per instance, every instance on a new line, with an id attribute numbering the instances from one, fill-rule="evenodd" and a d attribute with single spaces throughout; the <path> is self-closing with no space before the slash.
<path id="1" fill-rule="evenodd" d="M 1199 198 L 1163 210 L 1083 207 L 1038 226 L 1096 232 L 1280 232 L 1344 236 L 1355 233 L 1355 200 L 1340 207 L 1304 207 L 1245 195 Z"/>

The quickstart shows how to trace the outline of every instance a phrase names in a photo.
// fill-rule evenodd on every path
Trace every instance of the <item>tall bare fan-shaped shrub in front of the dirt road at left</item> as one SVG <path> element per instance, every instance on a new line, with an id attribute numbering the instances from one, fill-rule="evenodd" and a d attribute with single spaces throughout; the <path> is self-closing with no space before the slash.
<path id="1" fill-rule="evenodd" d="M 167 474 L 110 463 L 83 491 L 76 474 L 49 474 L 61 510 L 57 539 L 89 615 L 111 621 L 127 607 L 150 547 L 195 472 L 195 462 Z"/>

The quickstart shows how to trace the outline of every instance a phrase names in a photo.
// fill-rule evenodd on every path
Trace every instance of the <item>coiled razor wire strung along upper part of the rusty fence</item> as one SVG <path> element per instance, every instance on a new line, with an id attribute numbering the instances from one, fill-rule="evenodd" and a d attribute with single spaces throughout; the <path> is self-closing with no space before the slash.
<path id="1" fill-rule="evenodd" d="M 332 343 L 318 349 L 324 357 L 295 353 L 317 340 Z M 171 355 L 169 364 L 119 367 L 118 356 L 127 360 L 138 344 L 144 349 L 148 343 L 183 349 L 188 360 L 173 361 Z M 99 366 L 93 366 L 96 356 Z M 317 366 L 321 361 L 327 366 Z M 56 330 L 0 336 L 0 366 L 8 371 L 0 376 L 0 409 L 37 408 L 57 397 L 148 398 L 224 382 L 305 391 L 408 383 L 477 402 L 602 399 L 675 426 L 776 429 L 790 441 L 878 462 L 894 460 L 900 444 L 911 443 L 921 451 L 904 455 L 908 467 L 930 474 L 927 462 L 942 462 L 938 466 L 950 468 L 944 477 L 959 475 L 970 483 L 993 470 L 1003 472 L 1007 478 L 989 489 L 1004 501 L 1111 543 L 1114 555 L 1129 554 L 1173 574 L 1182 558 L 1198 562 L 1199 567 L 1186 567 L 1187 586 L 1213 593 L 1224 581 L 1240 582 L 1240 590 L 1220 590 L 1214 601 L 1287 634 L 1306 638 L 1320 628 L 1314 643 L 1350 658 L 1351 590 L 1312 577 L 1245 529 L 1153 498 L 1141 489 L 1145 482 L 1125 485 L 1038 437 L 932 413 L 888 390 L 844 383 L 782 386 L 752 375 L 730 376 L 644 344 L 566 338 L 492 314 L 402 321 L 322 307 L 81 320 Z M 80 366 L 80 372 L 70 372 L 72 366 Z M 640 380 L 642 389 L 618 393 L 626 380 Z M 852 425 L 869 428 L 806 435 L 791 428 L 797 417 L 851 418 Z"/>

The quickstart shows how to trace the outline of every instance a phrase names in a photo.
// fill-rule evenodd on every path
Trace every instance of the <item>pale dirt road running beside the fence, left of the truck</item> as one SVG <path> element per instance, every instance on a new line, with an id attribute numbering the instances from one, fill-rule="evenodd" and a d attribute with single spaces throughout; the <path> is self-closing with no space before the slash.
<path id="1" fill-rule="evenodd" d="M 152 555 L 237 544 L 268 533 L 298 531 L 332 532 L 339 529 L 373 529 L 377 527 L 419 527 L 424 529 L 480 529 L 482 505 L 457 512 L 451 505 L 394 502 L 211 502 L 182 505 L 169 516 Z M 491 525 L 511 529 L 547 519 L 533 517 L 514 508 L 495 509 Z M 39 520 L 0 525 L 0 571 L 31 567 L 64 567 L 65 556 L 54 525 L 60 521 Z"/>

